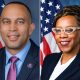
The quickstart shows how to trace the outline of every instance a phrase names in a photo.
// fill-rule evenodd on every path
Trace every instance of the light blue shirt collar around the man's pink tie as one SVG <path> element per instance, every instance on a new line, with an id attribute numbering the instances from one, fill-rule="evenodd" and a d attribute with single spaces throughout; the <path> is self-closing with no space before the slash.
<path id="1" fill-rule="evenodd" d="M 31 43 L 30 40 L 26 43 L 25 47 L 19 51 L 15 56 L 17 58 L 19 58 L 20 61 L 24 61 L 26 55 L 28 54 L 28 51 L 30 49 Z M 13 55 L 10 54 L 10 52 L 8 52 L 8 50 L 6 49 L 6 64 L 8 63 L 9 59 L 12 57 Z"/>

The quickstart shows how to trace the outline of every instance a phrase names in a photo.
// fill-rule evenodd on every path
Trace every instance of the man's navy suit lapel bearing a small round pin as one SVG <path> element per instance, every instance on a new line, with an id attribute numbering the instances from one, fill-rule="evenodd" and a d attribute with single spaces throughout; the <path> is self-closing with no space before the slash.
<path id="1" fill-rule="evenodd" d="M 30 76 L 34 66 L 37 64 L 36 59 L 38 57 L 38 52 L 36 52 L 35 49 L 35 46 L 31 45 L 28 55 L 26 56 L 21 71 L 17 77 L 17 80 L 28 80 L 28 77 Z"/>

